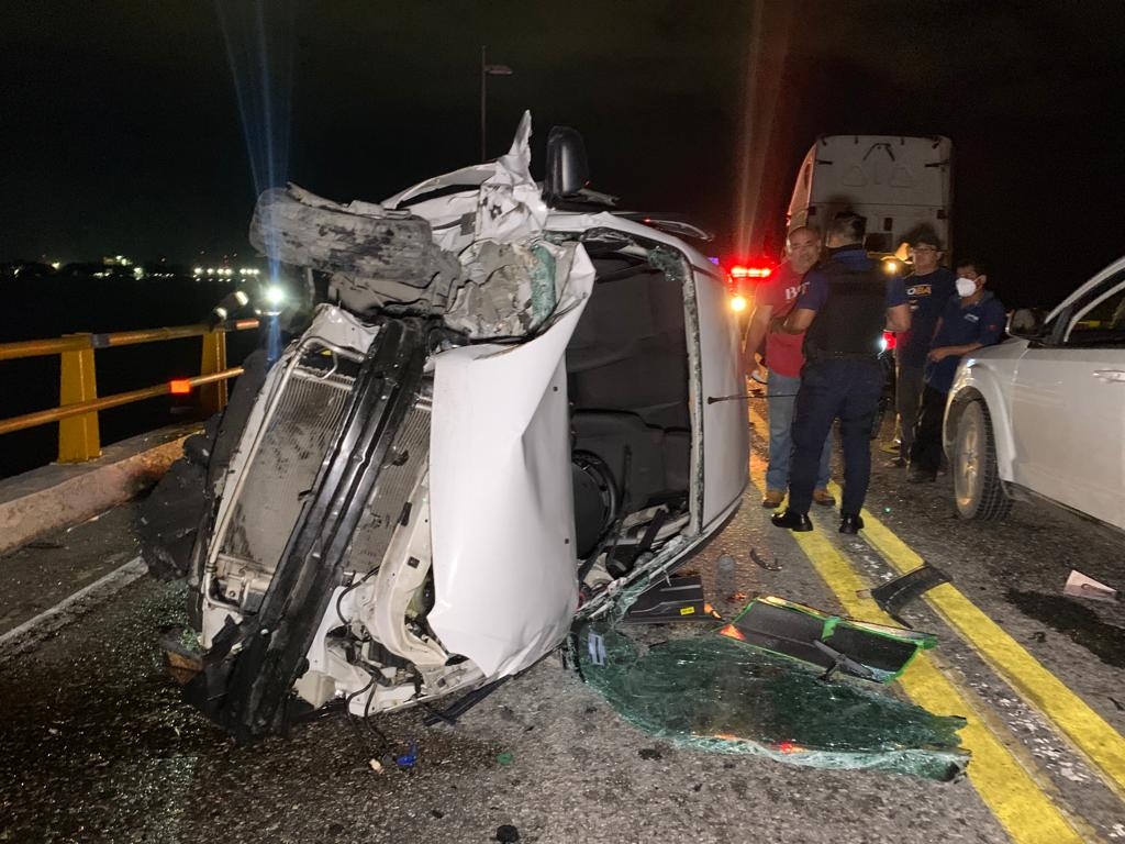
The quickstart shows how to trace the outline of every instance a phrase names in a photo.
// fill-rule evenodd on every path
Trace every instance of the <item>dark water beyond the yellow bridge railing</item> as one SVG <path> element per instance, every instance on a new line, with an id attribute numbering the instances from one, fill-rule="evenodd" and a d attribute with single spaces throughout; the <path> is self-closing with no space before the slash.
<path id="1" fill-rule="evenodd" d="M 57 276 L 0 279 L 0 342 L 184 325 L 204 320 L 232 281 L 99 279 Z M 227 338 L 234 366 L 256 332 Z M 106 349 L 96 354 L 98 395 L 140 389 L 199 372 L 199 338 Z M 0 361 L 0 419 L 58 404 L 58 356 Z M 102 446 L 198 415 L 194 397 L 162 396 L 100 414 Z M 0 477 L 44 466 L 57 455 L 57 424 L 0 436 Z"/>

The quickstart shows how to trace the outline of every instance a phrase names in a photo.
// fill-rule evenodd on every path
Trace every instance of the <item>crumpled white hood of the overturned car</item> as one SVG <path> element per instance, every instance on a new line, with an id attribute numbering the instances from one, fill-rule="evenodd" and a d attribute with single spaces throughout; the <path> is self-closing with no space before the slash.
<path id="1" fill-rule="evenodd" d="M 489 676 L 558 645 L 577 605 L 564 356 L 593 282 L 578 250 L 579 304 L 542 334 L 435 357 L 429 620 L 447 650 Z"/>

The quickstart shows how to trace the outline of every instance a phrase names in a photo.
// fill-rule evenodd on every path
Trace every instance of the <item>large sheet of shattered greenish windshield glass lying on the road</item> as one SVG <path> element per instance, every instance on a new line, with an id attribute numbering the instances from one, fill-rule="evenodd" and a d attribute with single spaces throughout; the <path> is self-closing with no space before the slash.
<path id="1" fill-rule="evenodd" d="M 676 745 L 935 780 L 968 764 L 957 737 L 964 719 L 878 686 L 825 682 L 811 666 L 713 632 L 641 653 L 612 628 L 587 630 L 577 648 L 586 681 L 627 721 Z M 585 636 L 600 637 L 597 647 L 587 648 Z"/>

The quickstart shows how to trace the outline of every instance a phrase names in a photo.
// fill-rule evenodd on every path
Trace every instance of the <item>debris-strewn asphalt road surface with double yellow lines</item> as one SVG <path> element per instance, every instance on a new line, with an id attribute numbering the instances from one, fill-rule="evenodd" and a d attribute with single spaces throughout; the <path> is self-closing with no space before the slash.
<path id="1" fill-rule="evenodd" d="M 378 719 L 396 747 L 416 743 L 410 770 L 372 770 L 382 737 L 341 716 L 235 747 L 165 668 L 181 587 L 99 581 L 136 556 L 126 506 L 0 560 L 0 841 L 488 842 L 507 825 L 522 842 L 1125 842 L 1125 612 L 1062 596 L 1072 568 L 1123 585 L 1122 539 L 1023 503 L 1004 523 L 960 521 L 947 477 L 908 484 L 878 451 L 867 530 L 842 537 L 818 508 L 817 530 L 793 536 L 758 505 L 764 413 L 741 510 L 686 567 L 727 614 L 768 593 L 876 621 L 857 589 L 921 560 L 942 568 L 952 583 L 903 613 L 940 645 L 892 693 L 969 718 L 966 776 L 677 748 L 555 658 L 456 727 Z"/>

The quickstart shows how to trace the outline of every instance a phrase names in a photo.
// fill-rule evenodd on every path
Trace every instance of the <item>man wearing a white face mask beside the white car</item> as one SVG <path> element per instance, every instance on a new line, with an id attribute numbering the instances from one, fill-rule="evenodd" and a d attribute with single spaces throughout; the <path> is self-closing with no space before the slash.
<path id="1" fill-rule="evenodd" d="M 937 477 L 945 399 L 961 358 L 1000 342 L 1004 334 L 1004 305 L 984 289 L 987 281 L 984 266 L 979 260 L 957 263 L 957 295 L 945 306 L 934 334 L 934 347 L 926 359 L 921 413 L 910 447 L 907 479 L 911 483 L 926 483 Z"/>

